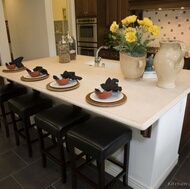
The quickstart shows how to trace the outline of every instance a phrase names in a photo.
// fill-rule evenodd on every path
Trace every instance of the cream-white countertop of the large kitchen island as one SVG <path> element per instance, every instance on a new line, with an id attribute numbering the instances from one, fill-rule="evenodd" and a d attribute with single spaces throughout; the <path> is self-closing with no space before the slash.
<path id="1" fill-rule="evenodd" d="M 108 66 L 102 68 L 85 64 L 85 62 L 92 61 L 93 59 L 93 57 L 78 55 L 77 59 L 70 63 L 59 63 L 58 57 L 23 62 L 24 66 L 31 70 L 36 66 L 43 66 L 50 76 L 42 81 L 21 81 L 21 76 L 27 74 L 25 70 L 5 73 L 2 72 L 6 68 L 5 66 L 0 66 L 0 76 L 139 130 L 146 130 L 190 92 L 190 71 L 188 70 L 182 70 L 179 73 L 175 88 L 162 89 L 156 86 L 157 79 L 141 79 L 135 82 L 127 81 L 124 79 L 120 68 L 107 68 Z M 117 61 L 106 60 L 106 62 L 108 61 L 119 64 Z M 65 70 L 74 71 L 76 75 L 83 78 L 79 81 L 79 88 L 65 92 L 47 90 L 46 85 L 54 81 L 53 75 L 59 75 Z M 122 87 L 122 92 L 127 96 L 127 101 L 123 105 L 115 107 L 97 107 L 87 103 L 85 100 L 86 95 L 92 92 L 95 87 L 104 83 L 108 77 L 119 79 L 119 86 Z"/>

